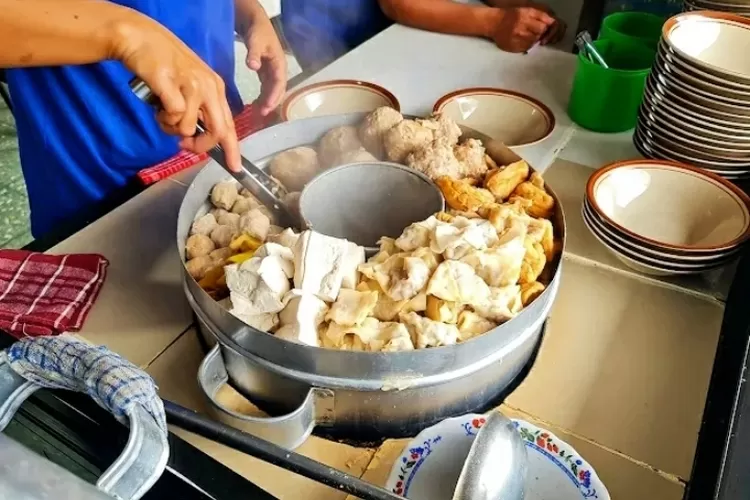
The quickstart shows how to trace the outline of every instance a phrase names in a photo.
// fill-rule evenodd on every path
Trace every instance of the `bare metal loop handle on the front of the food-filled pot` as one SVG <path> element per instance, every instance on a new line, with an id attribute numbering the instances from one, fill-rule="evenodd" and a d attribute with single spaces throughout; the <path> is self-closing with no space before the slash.
<path id="1" fill-rule="evenodd" d="M 217 420 L 261 439 L 293 450 L 313 431 L 320 414 L 330 412 L 333 392 L 312 387 L 302 404 L 286 415 L 258 417 L 244 415 L 224 406 L 216 393 L 229 380 L 224 358 L 217 344 L 203 358 L 198 370 L 198 385 L 206 395 L 211 414 Z"/>

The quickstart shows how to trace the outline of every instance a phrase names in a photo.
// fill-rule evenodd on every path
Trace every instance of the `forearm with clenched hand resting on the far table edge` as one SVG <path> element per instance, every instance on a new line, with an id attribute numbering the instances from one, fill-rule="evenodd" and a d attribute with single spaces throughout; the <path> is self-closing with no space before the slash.
<path id="1" fill-rule="evenodd" d="M 505 3 L 494 0 L 493 3 Z M 535 6 L 493 7 L 452 0 L 379 0 L 390 19 L 414 28 L 493 40 L 508 52 L 526 52 L 555 24 Z"/>

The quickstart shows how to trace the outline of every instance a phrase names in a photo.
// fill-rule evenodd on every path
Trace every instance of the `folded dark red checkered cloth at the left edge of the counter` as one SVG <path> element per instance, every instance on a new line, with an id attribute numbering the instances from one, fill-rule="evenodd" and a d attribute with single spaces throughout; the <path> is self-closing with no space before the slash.
<path id="1" fill-rule="evenodd" d="M 19 339 L 80 330 L 108 265 L 95 254 L 0 250 L 0 330 Z"/>

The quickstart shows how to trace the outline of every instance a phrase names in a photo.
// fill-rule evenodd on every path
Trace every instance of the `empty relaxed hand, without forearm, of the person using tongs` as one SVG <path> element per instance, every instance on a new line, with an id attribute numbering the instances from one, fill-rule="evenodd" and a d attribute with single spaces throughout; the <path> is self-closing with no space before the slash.
<path id="1" fill-rule="evenodd" d="M 247 67 L 260 79 L 260 114 L 268 115 L 279 105 L 286 91 L 286 56 L 271 21 L 263 16 L 253 20 L 245 36 Z"/>

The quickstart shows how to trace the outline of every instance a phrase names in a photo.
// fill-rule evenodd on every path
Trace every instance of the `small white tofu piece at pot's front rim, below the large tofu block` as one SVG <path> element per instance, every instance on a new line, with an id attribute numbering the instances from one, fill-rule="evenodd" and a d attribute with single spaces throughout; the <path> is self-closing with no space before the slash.
<path id="1" fill-rule="evenodd" d="M 319 347 L 318 327 L 325 319 L 328 305 L 313 294 L 292 290 L 284 298 L 286 306 L 279 313 L 281 327 L 276 336 Z"/>

